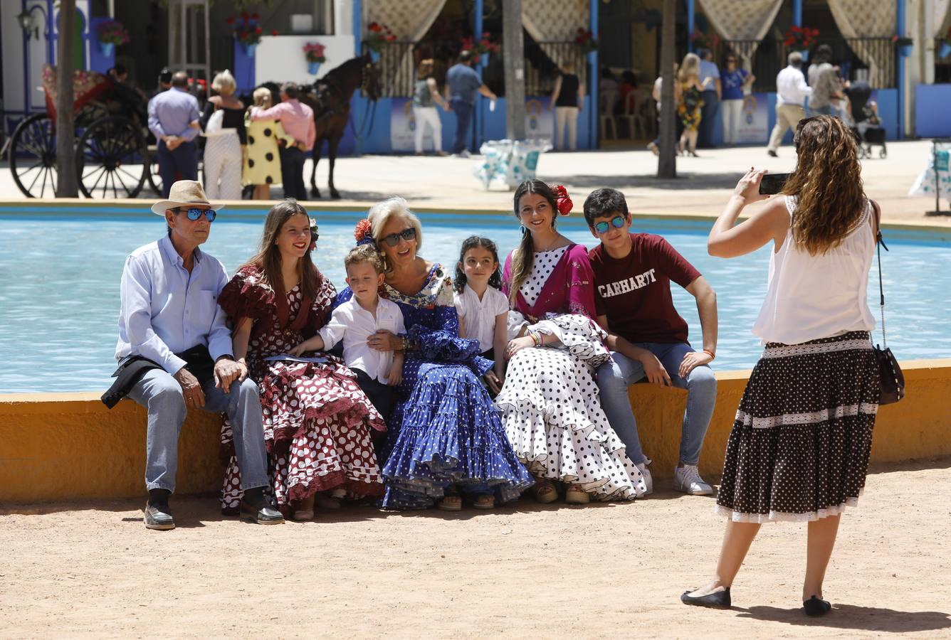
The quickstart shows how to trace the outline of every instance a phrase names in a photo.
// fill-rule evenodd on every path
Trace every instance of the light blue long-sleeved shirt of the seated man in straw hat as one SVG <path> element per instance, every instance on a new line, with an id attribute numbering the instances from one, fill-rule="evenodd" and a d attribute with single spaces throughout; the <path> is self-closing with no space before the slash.
<path id="1" fill-rule="evenodd" d="M 204 345 L 212 360 L 233 352 L 227 315 L 218 294 L 227 284 L 223 264 L 195 250 L 191 273 L 167 236 L 126 258 L 120 286 L 116 360 L 141 355 L 174 374 L 184 367 L 175 355 Z"/>

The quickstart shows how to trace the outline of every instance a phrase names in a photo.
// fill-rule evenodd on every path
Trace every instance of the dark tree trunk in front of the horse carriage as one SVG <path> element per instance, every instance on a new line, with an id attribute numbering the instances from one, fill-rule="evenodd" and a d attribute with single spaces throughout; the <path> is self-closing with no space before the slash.
<path id="1" fill-rule="evenodd" d="M 57 198 L 79 196 L 76 178 L 75 129 L 76 114 L 72 111 L 72 44 L 76 23 L 76 0 L 61 0 L 59 42 L 56 49 L 56 168 Z"/>

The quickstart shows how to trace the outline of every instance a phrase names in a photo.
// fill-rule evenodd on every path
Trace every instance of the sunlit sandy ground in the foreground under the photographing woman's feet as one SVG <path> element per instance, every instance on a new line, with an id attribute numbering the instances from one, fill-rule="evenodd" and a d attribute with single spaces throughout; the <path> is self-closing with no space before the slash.
<path id="1" fill-rule="evenodd" d="M 15 507 L 0 511 L 0 637 L 951 637 L 949 467 L 872 469 L 821 619 L 798 611 L 805 524 L 764 527 L 732 611 L 682 605 L 724 520 L 661 480 L 635 503 L 354 506 L 273 527 L 180 497 L 167 533 L 146 531 L 145 499 Z"/>

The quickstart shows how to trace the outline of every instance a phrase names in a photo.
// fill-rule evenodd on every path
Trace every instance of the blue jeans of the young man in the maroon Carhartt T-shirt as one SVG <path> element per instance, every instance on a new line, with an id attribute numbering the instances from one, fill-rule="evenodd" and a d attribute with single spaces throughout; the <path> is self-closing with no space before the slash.
<path id="1" fill-rule="evenodd" d="M 707 365 L 694 367 L 687 379 L 677 374 L 684 356 L 693 351 L 686 343 L 660 344 L 654 342 L 638 343 L 660 361 L 670 375 L 673 386 L 687 389 L 687 410 L 681 425 L 680 461 L 684 464 L 696 464 L 700 460 L 700 449 L 707 435 L 713 405 L 716 403 L 716 378 Z M 601 406 L 604 408 L 611 428 L 628 448 L 628 458 L 635 464 L 647 460 L 637 436 L 637 421 L 631 410 L 628 386 L 644 378 L 644 367 L 637 360 L 616 351 L 611 351 L 613 362 L 609 361 L 597 370 L 597 386 L 601 391 Z"/>

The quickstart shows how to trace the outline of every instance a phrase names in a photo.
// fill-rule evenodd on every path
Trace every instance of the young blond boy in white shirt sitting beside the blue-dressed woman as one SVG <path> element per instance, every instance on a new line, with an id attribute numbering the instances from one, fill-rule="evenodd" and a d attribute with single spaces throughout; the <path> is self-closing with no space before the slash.
<path id="1" fill-rule="evenodd" d="M 372 246 L 352 249 L 343 259 L 343 266 L 353 297 L 334 310 L 317 335 L 292 348 L 291 355 L 329 350 L 342 339 L 343 362 L 357 374 L 360 388 L 388 420 L 393 409 L 393 387 L 403 377 L 403 353 L 370 348 L 367 339 L 380 329 L 405 333 L 403 314 L 396 303 L 379 297 L 383 262 Z"/>

